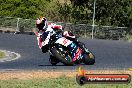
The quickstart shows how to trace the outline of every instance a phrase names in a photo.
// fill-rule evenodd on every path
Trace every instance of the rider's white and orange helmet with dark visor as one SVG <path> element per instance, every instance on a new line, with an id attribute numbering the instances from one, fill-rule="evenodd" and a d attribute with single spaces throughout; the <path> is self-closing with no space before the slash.
<path id="1" fill-rule="evenodd" d="M 36 20 L 36 27 L 39 29 L 39 30 L 46 30 L 48 26 L 48 23 L 47 23 L 47 19 L 45 17 L 40 17 L 40 18 L 37 18 Z"/>

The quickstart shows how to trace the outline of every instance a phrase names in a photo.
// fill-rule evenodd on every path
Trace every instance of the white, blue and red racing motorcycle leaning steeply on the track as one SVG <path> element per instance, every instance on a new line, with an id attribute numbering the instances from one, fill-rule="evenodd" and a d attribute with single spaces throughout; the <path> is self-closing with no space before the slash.
<path id="1" fill-rule="evenodd" d="M 44 40 L 42 44 L 39 44 L 40 36 Z M 68 66 L 81 63 L 93 65 L 95 63 L 94 55 L 85 46 L 83 47 L 85 47 L 86 51 L 83 51 L 74 41 L 63 37 L 52 28 L 48 28 L 45 35 L 39 35 L 37 39 L 42 52 L 46 53 L 49 51 L 51 53 L 49 62 L 52 65 L 56 65 L 59 62 Z"/>

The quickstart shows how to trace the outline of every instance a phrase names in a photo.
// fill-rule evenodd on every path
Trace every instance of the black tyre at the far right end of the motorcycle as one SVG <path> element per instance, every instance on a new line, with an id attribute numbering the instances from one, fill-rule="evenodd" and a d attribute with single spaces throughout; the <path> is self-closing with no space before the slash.
<path id="1" fill-rule="evenodd" d="M 95 63 L 95 57 L 92 53 L 84 54 L 84 63 L 86 65 L 93 65 Z"/>

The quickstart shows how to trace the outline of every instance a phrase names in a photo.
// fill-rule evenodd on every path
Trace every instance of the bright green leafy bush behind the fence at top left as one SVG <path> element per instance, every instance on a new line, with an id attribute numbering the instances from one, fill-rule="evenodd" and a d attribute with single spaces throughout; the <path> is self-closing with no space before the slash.
<path id="1" fill-rule="evenodd" d="M 3 0 L 0 1 L 0 16 L 32 18 L 43 15 L 51 0 Z"/>

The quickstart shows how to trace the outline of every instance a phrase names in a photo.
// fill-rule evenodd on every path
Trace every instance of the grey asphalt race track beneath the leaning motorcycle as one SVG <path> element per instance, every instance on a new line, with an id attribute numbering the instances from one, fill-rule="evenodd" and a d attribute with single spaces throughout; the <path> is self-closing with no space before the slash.
<path id="1" fill-rule="evenodd" d="M 80 39 L 96 57 L 94 65 L 83 65 L 85 69 L 127 69 L 132 67 L 132 43 L 113 40 Z M 0 34 L 0 49 L 21 54 L 21 58 L 9 62 L 0 62 L 2 69 L 23 70 L 75 70 L 75 66 L 62 63 L 52 66 L 49 53 L 42 53 L 34 35 Z"/>

